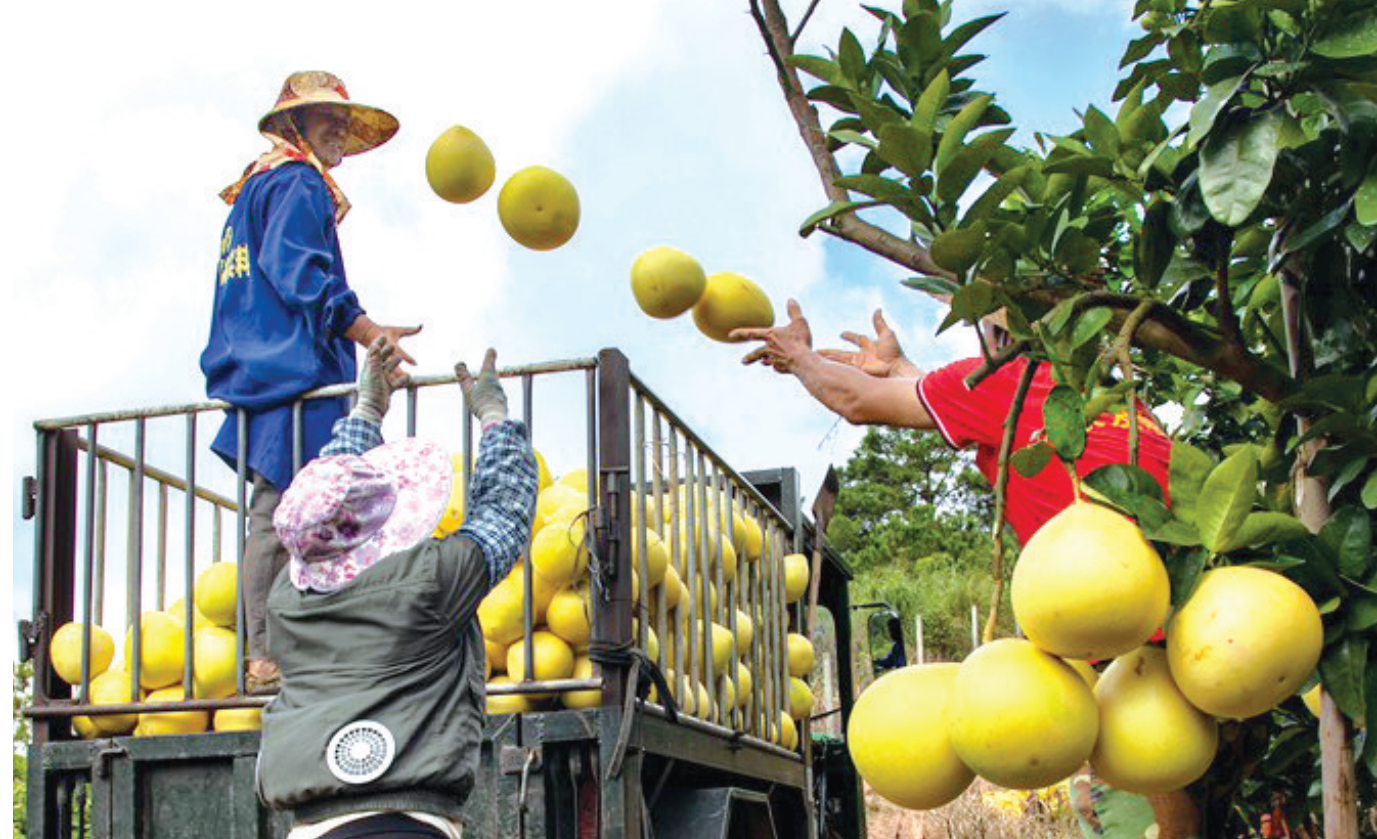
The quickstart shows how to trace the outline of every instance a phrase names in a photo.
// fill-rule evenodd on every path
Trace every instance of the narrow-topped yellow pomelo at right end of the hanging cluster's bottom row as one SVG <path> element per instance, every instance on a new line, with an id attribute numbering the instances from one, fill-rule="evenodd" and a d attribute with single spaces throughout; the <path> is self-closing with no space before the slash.
<path id="1" fill-rule="evenodd" d="M 1095 687 L 1100 736 L 1091 767 L 1115 789 L 1151 795 L 1205 774 L 1219 748 L 1219 723 L 1172 681 L 1166 650 L 1142 646 L 1115 659 Z"/>

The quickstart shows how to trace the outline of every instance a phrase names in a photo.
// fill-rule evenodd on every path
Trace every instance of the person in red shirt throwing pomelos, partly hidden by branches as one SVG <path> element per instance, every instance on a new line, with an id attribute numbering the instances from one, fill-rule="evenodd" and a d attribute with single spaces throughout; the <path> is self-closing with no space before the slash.
<path id="1" fill-rule="evenodd" d="M 1004 420 L 1027 360 L 1013 360 L 975 387 L 967 387 L 965 377 L 980 365 L 980 358 L 964 358 L 923 372 L 903 354 L 880 311 L 874 313 L 873 339 L 841 333 L 855 344 L 854 351 L 814 350 L 799 303 L 789 300 L 788 311 L 789 322 L 784 327 L 733 331 L 735 340 L 763 342 L 742 360 L 744 364 L 766 364 L 793 375 L 815 400 L 852 424 L 935 430 L 954 448 L 975 446 L 976 468 L 994 484 Z M 986 318 L 982 331 L 994 344 L 1008 340 L 994 318 Z M 1040 365 L 1019 415 L 1013 450 L 1041 437 L 1042 404 L 1055 384 L 1051 365 Z M 1110 463 L 1128 463 L 1128 431 L 1126 412 L 1097 417 L 1086 430 L 1085 452 L 1075 463 L 1077 474 L 1085 477 Z M 1169 462 L 1170 439 L 1147 408 L 1139 405 L 1137 463 L 1157 478 L 1164 493 Z M 1027 544 L 1038 528 L 1074 500 L 1073 493 L 1070 475 L 1055 462 L 1031 478 L 1009 470 L 1004 517 L 1019 541 Z"/>

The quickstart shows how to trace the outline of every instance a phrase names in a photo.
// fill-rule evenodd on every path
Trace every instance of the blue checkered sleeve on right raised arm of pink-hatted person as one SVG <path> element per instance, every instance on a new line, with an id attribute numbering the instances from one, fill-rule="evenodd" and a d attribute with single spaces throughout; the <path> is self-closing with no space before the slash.
<path id="1" fill-rule="evenodd" d="M 459 529 L 483 548 L 489 586 L 507 576 L 526 548 L 536 515 L 540 474 L 526 439 L 526 426 L 503 420 L 483 431 L 468 492 L 468 511 Z"/>

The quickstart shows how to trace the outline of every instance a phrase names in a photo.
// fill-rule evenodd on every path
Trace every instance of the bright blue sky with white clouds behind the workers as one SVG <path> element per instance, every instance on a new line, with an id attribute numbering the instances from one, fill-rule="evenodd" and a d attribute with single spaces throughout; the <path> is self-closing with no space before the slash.
<path id="1" fill-rule="evenodd" d="M 12 614 L 28 617 L 32 522 L 18 486 L 33 474 L 37 419 L 200 401 L 209 321 L 216 193 L 264 149 L 253 125 L 282 77 L 340 74 L 355 99 L 402 123 L 395 141 L 336 171 L 354 203 L 341 227 L 351 282 L 375 320 L 423 322 L 416 372 L 443 373 L 496 346 L 503 364 L 620 347 L 632 369 L 738 470 L 796 466 L 811 499 L 862 430 L 840 426 L 789 379 L 742 368 L 741 347 L 688 317 L 654 321 L 628 282 L 635 256 L 668 244 L 709 271 L 755 278 L 784 317 L 797 298 L 818 346 L 869 329 L 883 306 L 910 355 L 934 366 L 968 354 L 964 331 L 934 338 L 936 304 L 906 274 L 799 222 L 825 201 L 748 14 L 746 0 L 603 0 L 319 7 L 311 25 L 281 4 L 215 12 L 185 3 L 26 4 L 0 62 L 14 117 L 3 141 Z M 807 4 L 785 4 L 795 14 Z M 1016 6 L 972 47 L 1015 121 L 1070 131 L 1103 107 L 1129 37 L 1129 3 L 958 0 L 958 17 Z M 255 23 L 255 21 L 257 21 Z M 804 45 L 843 23 L 873 40 L 847 0 L 819 7 Z M 277 32 L 281 30 L 281 32 Z M 275 33 L 277 32 L 277 33 Z M 448 125 L 482 135 L 498 185 L 470 205 L 424 182 Z M 582 201 L 574 240 L 525 251 L 496 218 L 501 180 L 541 164 Z M 544 423 L 554 471 L 577 466 L 581 428 Z M 209 426 L 213 428 L 213 424 Z M 543 437 L 544 435 L 544 437 Z M 201 481 L 229 486 L 208 464 Z M 12 656 L 12 634 L 6 650 Z"/>

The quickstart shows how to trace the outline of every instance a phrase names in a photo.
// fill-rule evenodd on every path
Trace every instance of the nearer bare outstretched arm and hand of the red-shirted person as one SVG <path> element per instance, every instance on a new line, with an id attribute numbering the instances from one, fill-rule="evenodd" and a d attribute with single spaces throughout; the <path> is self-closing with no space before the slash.
<path id="1" fill-rule="evenodd" d="M 759 362 L 792 373 L 815 400 L 852 424 L 935 427 L 918 401 L 917 376 L 881 379 L 825 358 L 812 350 L 812 335 L 799 303 L 789 300 L 788 311 L 788 325 L 731 332 L 734 340 L 763 342 L 742 364 Z"/>

